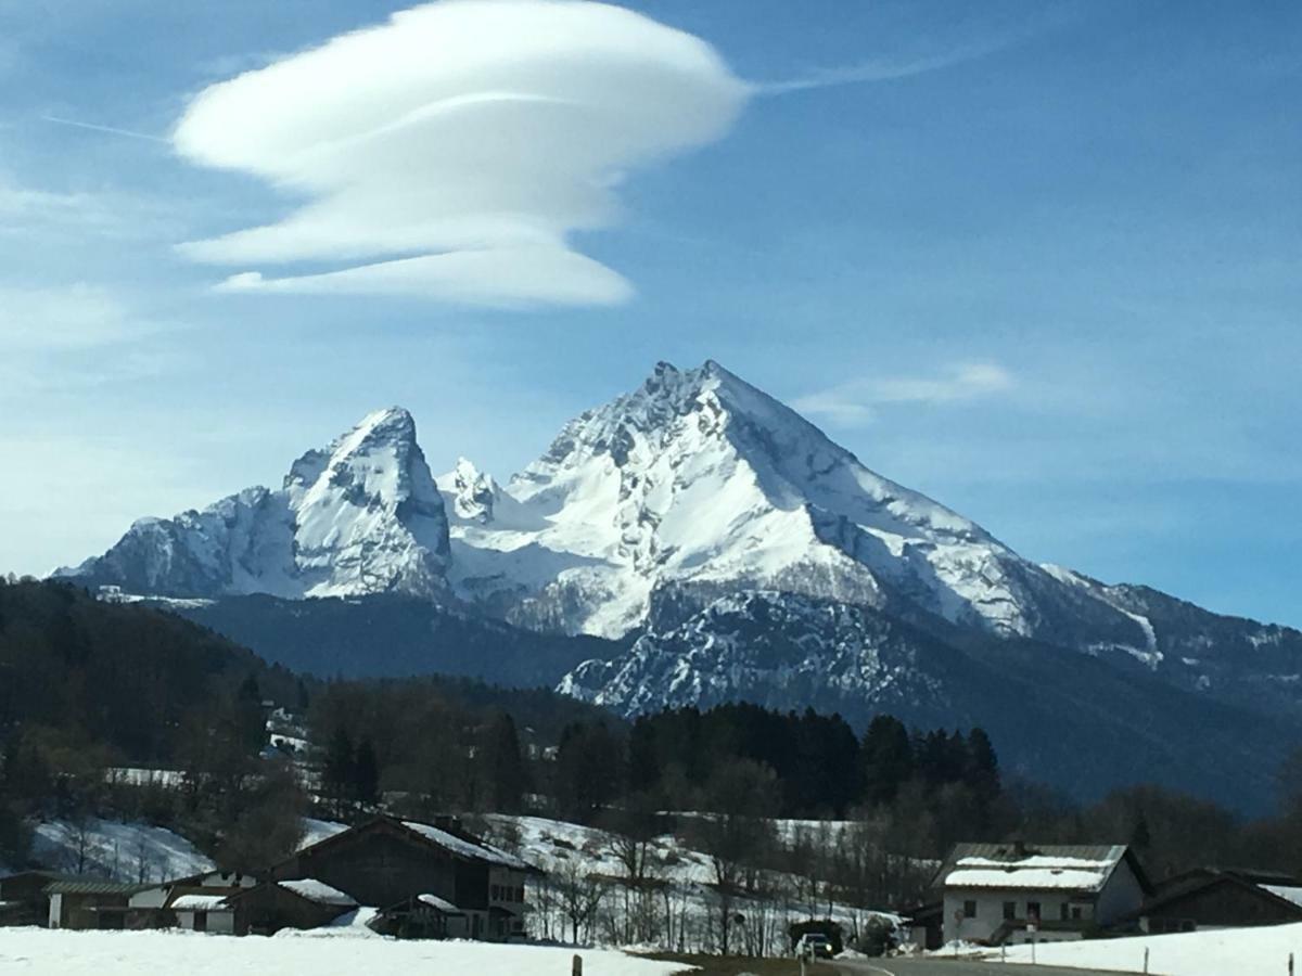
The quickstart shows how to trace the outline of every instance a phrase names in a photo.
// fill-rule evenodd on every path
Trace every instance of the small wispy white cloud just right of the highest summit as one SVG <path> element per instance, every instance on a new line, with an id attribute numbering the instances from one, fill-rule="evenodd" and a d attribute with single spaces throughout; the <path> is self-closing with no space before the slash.
<path id="1" fill-rule="evenodd" d="M 944 405 L 1012 390 L 1016 381 L 996 363 L 954 363 L 935 376 L 885 376 L 855 380 L 810 393 L 793 406 L 842 427 L 872 423 L 881 406 L 892 403 Z"/>

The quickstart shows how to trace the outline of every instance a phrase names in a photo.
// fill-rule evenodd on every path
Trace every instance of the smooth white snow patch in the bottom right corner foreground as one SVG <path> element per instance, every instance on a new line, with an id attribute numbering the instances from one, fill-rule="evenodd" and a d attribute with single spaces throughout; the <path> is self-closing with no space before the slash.
<path id="1" fill-rule="evenodd" d="M 1154 976 L 1288 976 L 1289 953 L 1302 966 L 1302 924 L 1059 942 L 1038 946 L 1035 959 L 1048 966 L 1143 972 L 1144 949 Z M 1009 949 L 1008 960 L 1029 963 L 1030 947 Z"/>

